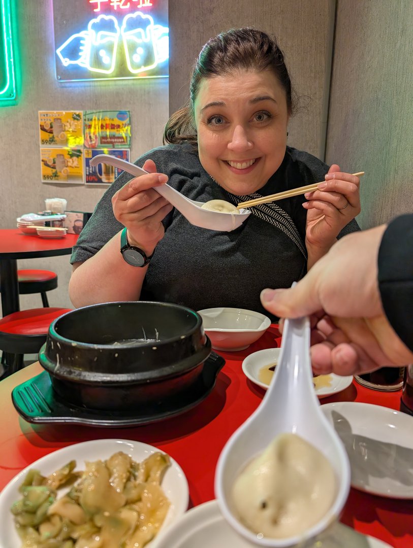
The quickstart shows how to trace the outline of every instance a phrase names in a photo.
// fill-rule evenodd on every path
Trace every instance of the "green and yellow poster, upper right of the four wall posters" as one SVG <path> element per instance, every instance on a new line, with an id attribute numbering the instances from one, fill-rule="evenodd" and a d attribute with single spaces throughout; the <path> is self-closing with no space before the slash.
<path id="1" fill-rule="evenodd" d="M 131 146 L 131 113 L 84 112 L 84 146 L 88 149 L 128 149 Z"/>

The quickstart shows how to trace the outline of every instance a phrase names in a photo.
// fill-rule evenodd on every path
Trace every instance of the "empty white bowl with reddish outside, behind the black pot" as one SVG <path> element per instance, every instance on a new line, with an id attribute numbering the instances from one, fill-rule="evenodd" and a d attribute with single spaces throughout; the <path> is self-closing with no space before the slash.
<path id="1" fill-rule="evenodd" d="M 198 313 L 215 350 L 245 350 L 271 325 L 267 316 L 253 310 L 219 307 L 198 310 Z"/>

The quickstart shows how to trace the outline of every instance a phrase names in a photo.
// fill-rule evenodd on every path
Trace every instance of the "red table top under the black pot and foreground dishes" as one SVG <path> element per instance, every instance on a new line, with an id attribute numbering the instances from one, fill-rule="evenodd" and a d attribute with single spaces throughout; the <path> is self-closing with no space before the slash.
<path id="1" fill-rule="evenodd" d="M 100 429 L 79 425 L 32 425 L 13 407 L 14 386 L 41 373 L 36 363 L 0 382 L 0 489 L 26 466 L 73 443 L 89 439 L 121 438 L 149 443 L 171 455 L 188 478 L 190 504 L 214 498 L 213 481 L 218 456 L 230 435 L 257 408 L 264 391 L 242 373 L 242 360 L 252 352 L 279 346 L 276 327 L 241 352 L 219 352 L 225 358 L 211 394 L 194 409 L 160 423 L 127 429 Z M 357 401 L 399 409 L 400 392 L 376 392 L 353 381 L 346 390 L 321 403 Z M 395 548 L 413 546 L 413 501 L 387 499 L 350 490 L 343 523 L 375 536 Z"/>

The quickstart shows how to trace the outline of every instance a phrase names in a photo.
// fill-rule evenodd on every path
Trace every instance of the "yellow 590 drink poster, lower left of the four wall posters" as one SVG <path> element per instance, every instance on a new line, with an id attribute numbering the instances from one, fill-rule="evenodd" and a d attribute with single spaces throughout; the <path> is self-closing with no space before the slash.
<path id="1" fill-rule="evenodd" d="M 83 150 L 40 149 L 42 182 L 83 184 Z"/>

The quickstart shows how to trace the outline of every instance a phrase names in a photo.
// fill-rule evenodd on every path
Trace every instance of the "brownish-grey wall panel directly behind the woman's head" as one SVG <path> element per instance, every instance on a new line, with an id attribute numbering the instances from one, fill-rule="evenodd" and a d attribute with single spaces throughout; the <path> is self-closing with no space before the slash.
<path id="1" fill-rule="evenodd" d="M 188 99 L 191 67 L 208 38 L 231 27 L 261 28 L 278 38 L 307 107 L 290 121 L 288 144 L 324 156 L 334 9 L 331 0 L 169 0 L 170 112 Z"/>

